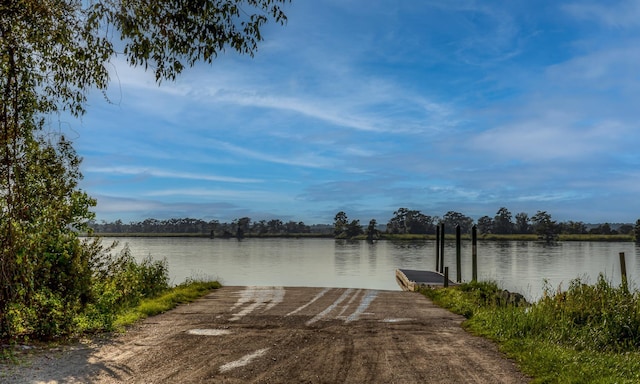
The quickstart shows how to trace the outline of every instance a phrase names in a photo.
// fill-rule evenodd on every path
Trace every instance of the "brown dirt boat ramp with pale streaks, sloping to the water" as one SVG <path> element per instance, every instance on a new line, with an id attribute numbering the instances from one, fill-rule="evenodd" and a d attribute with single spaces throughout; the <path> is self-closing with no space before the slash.
<path id="1" fill-rule="evenodd" d="M 224 287 L 113 339 L 0 366 L 2 383 L 526 383 L 417 293 Z"/>

